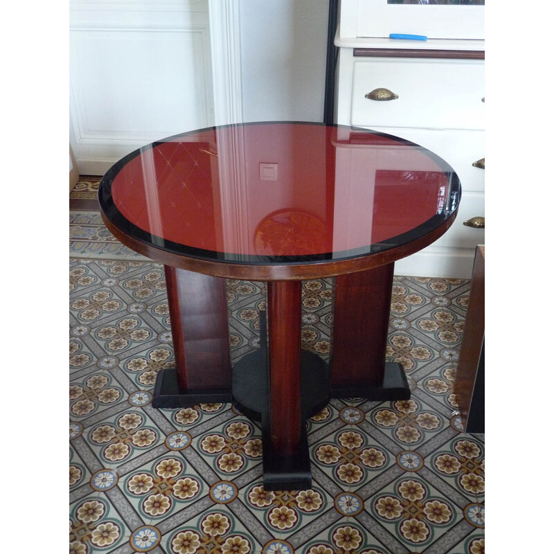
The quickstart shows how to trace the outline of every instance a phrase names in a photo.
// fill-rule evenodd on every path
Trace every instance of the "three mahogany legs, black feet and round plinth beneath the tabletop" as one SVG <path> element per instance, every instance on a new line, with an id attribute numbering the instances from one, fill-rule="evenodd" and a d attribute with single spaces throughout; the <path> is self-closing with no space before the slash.
<path id="1" fill-rule="evenodd" d="M 402 365 L 384 362 L 393 264 L 337 277 L 331 368 L 301 350 L 301 281 L 267 283 L 260 349 L 231 372 L 224 279 L 171 267 L 166 278 L 177 368 L 159 372 L 152 406 L 235 403 L 262 429 L 266 490 L 311 488 L 306 420 L 330 398 L 410 397 Z"/>

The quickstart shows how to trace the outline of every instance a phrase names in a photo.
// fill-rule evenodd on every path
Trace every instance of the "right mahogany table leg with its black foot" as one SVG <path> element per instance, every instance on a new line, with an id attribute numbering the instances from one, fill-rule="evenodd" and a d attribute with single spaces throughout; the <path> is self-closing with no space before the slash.
<path id="1" fill-rule="evenodd" d="M 410 397 L 402 365 L 385 363 L 393 275 L 391 263 L 335 279 L 332 397 Z"/>

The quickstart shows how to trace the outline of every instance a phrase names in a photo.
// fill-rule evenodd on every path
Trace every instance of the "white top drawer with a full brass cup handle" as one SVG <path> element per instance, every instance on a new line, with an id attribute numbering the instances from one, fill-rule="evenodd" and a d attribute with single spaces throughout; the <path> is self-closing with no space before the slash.
<path id="1" fill-rule="evenodd" d="M 379 88 L 395 100 L 370 100 Z M 484 129 L 483 60 L 356 60 L 351 124 L 370 127 Z"/>

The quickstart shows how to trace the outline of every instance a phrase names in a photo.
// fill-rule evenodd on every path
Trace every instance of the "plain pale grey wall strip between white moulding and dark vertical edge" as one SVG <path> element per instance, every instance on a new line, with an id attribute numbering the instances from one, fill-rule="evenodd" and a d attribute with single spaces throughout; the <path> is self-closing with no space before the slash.
<path id="1" fill-rule="evenodd" d="M 327 0 L 241 0 L 244 121 L 323 121 Z"/>

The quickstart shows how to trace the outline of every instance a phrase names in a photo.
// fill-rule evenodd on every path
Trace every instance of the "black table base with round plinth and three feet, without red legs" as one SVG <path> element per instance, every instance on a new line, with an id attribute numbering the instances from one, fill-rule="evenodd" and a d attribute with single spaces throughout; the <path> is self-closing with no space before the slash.
<path id="1" fill-rule="evenodd" d="M 263 312 L 262 312 L 263 314 Z M 265 319 L 265 318 L 263 318 Z M 301 436 L 296 452 L 281 454 L 271 443 L 268 402 L 267 348 L 244 356 L 233 367 L 233 393 L 227 390 L 186 391 L 177 383 L 175 368 L 162 369 L 154 389 L 154 408 L 185 408 L 202 402 L 233 402 L 260 425 L 265 490 L 312 488 L 306 420 L 319 413 L 331 398 L 366 398 L 371 401 L 409 400 L 410 390 L 402 364 L 386 363 L 383 382 L 371 388 L 331 386 L 328 364 L 312 352 L 301 352 Z"/>

